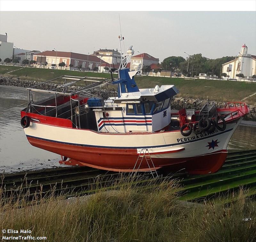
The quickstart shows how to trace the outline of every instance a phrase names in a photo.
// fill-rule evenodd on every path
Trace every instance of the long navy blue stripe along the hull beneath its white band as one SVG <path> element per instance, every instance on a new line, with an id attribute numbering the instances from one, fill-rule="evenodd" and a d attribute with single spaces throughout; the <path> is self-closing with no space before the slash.
<path id="1" fill-rule="evenodd" d="M 218 135 L 221 135 L 221 134 L 224 134 L 224 133 L 227 133 L 229 131 L 233 130 L 232 129 L 228 129 L 228 130 L 225 130 L 221 133 L 217 133 L 217 134 L 214 134 L 214 135 L 211 135 L 211 136 L 207 136 L 207 137 L 203 137 L 203 138 L 199 138 L 199 139 L 196 139 L 196 140 L 191 140 L 191 141 L 187 141 L 187 142 L 182 142 L 182 145 L 183 144 L 188 144 L 188 143 L 193 143 L 193 142 L 196 142 L 196 141 L 199 141 L 199 140 L 204 140 L 204 139 L 208 139 L 208 138 L 211 138 L 211 137 L 214 137 L 214 136 L 218 136 Z M 76 143 L 68 143 L 68 142 L 63 142 L 63 141 L 56 141 L 56 140 L 51 140 L 51 139 L 44 139 L 44 138 L 39 138 L 39 137 L 35 137 L 35 136 L 30 136 L 30 135 L 27 135 L 27 137 L 31 137 L 31 138 L 36 138 L 36 139 L 41 139 L 41 140 L 45 140 L 45 141 L 50 141 L 50 142 L 54 142 L 54 143 L 60 143 L 60 144 L 71 144 L 71 145 L 78 145 L 78 146 L 85 146 L 85 147 L 94 147 L 94 148 L 107 148 L 107 149 L 145 149 L 145 148 L 158 148 L 158 147 L 172 147 L 174 145 L 180 145 L 181 143 L 176 143 L 176 144 L 164 144 L 164 145 L 150 145 L 150 146 L 135 146 L 135 147 L 124 147 L 124 146 L 120 146 L 120 147 L 113 147 L 113 146 L 101 146 L 101 145 L 90 145 L 90 144 L 76 144 Z"/>

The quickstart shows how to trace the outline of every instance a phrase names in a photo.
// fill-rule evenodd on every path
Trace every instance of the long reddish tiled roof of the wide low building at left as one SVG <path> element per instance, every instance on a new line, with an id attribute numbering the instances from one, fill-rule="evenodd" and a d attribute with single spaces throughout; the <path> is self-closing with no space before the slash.
<path id="1" fill-rule="evenodd" d="M 65 52 L 65 51 L 43 51 L 41 53 L 36 54 L 35 56 L 52 56 L 52 57 L 62 57 L 62 58 L 71 58 L 71 59 L 80 59 L 80 60 L 88 60 L 93 62 L 100 63 L 100 58 L 92 55 L 79 54 L 74 52 Z M 107 63 L 104 60 L 101 60 L 101 63 Z"/>

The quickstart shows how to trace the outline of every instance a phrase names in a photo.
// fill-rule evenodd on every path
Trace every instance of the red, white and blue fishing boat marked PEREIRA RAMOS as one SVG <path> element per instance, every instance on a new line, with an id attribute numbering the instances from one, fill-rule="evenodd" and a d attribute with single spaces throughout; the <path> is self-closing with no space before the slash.
<path id="1" fill-rule="evenodd" d="M 132 46 L 121 54 L 122 62 L 111 70 L 109 80 L 64 75 L 28 88 L 28 106 L 21 111 L 20 122 L 29 143 L 60 154 L 59 162 L 65 165 L 118 172 L 218 171 L 232 134 L 249 112 L 247 104 L 173 110 L 177 88 L 139 89 L 134 76 L 141 64 L 127 68 L 133 54 Z M 63 84 L 45 88 L 57 79 Z M 71 89 L 79 83 L 84 86 Z M 109 88 L 113 85 L 116 89 Z M 36 100 L 38 93 L 45 98 Z"/>

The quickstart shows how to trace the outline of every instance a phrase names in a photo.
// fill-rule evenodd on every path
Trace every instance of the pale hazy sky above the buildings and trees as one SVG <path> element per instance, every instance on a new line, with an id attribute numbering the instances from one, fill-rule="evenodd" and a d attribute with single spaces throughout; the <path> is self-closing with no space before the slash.
<path id="1" fill-rule="evenodd" d="M 90 54 L 133 45 L 160 62 L 168 56 L 202 53 L 211 59 L 236 56 L 246 43 L 256 54 L 256 12 L 1 12 L 0 32 L 27 50 Z M 139 52 L 138 52 L 139 51 Z"/>

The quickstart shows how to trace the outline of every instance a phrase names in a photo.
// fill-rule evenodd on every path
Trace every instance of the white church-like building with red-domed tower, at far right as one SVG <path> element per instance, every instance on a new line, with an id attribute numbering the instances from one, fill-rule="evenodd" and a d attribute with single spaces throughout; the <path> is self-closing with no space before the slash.
<path id="1" fill-rule="evenodd" d="M 221 73 L 226 73 L 229 79 L 238 79 L 237 74 L 244 74 L 244 78 L 251 79 L 256 74 L 256 56 L 247 51 L 248 47 L 244 44 L 236 59 L 222 64 Z"/>

